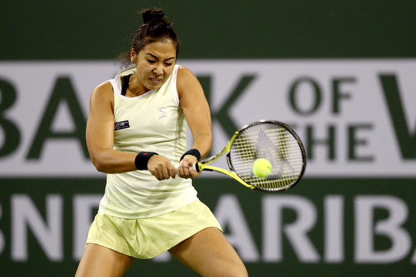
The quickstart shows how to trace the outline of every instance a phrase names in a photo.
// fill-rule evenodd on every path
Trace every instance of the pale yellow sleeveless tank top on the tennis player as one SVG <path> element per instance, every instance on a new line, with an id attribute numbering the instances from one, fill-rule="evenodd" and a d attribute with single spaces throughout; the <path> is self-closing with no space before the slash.
<path id="1" fill-rule="evenodd" d="M 179 105 L 176 76 L 179 65 L 160 89 L 134 98 L 121 95 L 121 71 L 110 80 L 114 89 L 114 150 L 157 152 L 179 163 L 187 151 L 187 122 Z M 98 213 L 123 218 L 162 215 L 197 200 L 191 179 L 158 181 L 148 170 L 107 174 Z"/>

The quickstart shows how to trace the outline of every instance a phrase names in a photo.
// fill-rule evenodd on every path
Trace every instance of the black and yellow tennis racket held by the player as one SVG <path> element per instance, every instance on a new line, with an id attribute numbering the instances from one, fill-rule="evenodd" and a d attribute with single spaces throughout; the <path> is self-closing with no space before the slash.
<path id="1" fill-rule="evenodd" d="M 209 166 L 226 154 L 228 170 Z M 254 161 L 267 159 L 270 174 L 260 178 L 252 172 Z M 202 159 L 193 169 L 220 172 L 248 188 L 277 192 L 295 186 L 306 168 L 306 154 L 299 136 L 288 125 L 275 120 L 260 120 L 234 133 L 218 154 Z"/>

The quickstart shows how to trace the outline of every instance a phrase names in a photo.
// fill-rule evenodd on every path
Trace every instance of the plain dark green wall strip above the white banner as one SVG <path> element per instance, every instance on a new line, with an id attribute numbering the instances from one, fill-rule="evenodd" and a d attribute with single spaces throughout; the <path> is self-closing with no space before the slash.
<path id="1" fill-rule="evenodd" d="M 415 1 L 0 1 L 0 60 L 112 59 L 161 7 L 182 58 L 415 57 Z"/>

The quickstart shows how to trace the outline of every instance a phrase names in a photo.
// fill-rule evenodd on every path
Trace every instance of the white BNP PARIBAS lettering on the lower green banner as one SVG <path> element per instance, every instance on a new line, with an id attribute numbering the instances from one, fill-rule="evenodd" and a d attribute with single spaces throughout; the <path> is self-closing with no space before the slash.
<path id="1" fill-rule="evenodd" d="M 61 195 L 46 195 L 46 220 L 42 219 L 39 208 L 33 203 L 29 195 L 19 194 L 10 196 L 10 238 L 3 239 L 4 249 L 10 249 L 12 261 L 22 262 L 32 259 L 29 247 L 33 240 L 29 240 L 28 231 L 33 233 L 40 244 L 47 259 L 62 261 L 64 258 L 80 260 L 87 238 L 89 226 L 92 223 L 93 210 L 98 206 L 101 195 L 73 196 L 73 226 L 64 226 L 63 197 Z M 227 238 L 236 248 L 245 262 L 283 262 L 284 236 L 288 240 L 293 253 L 301 263 L 343 263 L 345 257 L 354 257 L 351 262 L 356 264 L 388 264 L 406 261 L 416 264 L 415 243 L 409 233 L 414 230 L 406 229 L 406 222 L 414 222 L 413 215 L 408 213 L 408 204 L 399 197 L 391 195 L 357 195 L 352 203 L 354 209 L 354 234 L 349 239 L 354 243 L 345 247 L 345 199 L 341 195 L 327 195 L 323 199 L 324 214 L 306 197 L 297 195 L 266 195 L 261 197 L 261 229 L 259 233 L 252 233 L 241 204 L 234 195 L 221 195 L 214 209 L 218 221 L 226 227 Z M 78 206 L 79 205 L 79 206 Z M 255 204 L 257 206 L 257 204 Z M 250 205 L 249 205 L 250 207 Z M 295 220 L 287 223 L 283 220 L 284 211 L 295 213 Z M 374 217 L 376 211 L 385 211 L 387 217 Z M 323 219 L 323 228 L 318 224 L 318 218 Z M 7 226 L 0 217 L 1 226 Z M 408 227 L 407 227 L 408 228 Z M 414 228 L 414 225 L 413 227 Z M 63 236 L 63 230 L 73 230 L 73 237 Z M 322 231 L 322 240 L 313 240 L 309 233 Z M 1 232 L 0 232 L 1 233 Z M 261 238 L 260 238 L 261 236 Z M 257 249 L 254 237 L 260 238 L 261 249 Z M 375 238 L 383 237 L 391 244 L 385 249 L 376 249 Z M 73 241 L 71 257 L 64 257 L 63 239 Z M 10 247 L 4 244 L 10 242 Z M 323 245 L 320 245 L 323 244 Z M 323 249 L 321 255 L 317 249 Z M 253 251 L 253 253 L 249 253 Z M 259 251 L 261 254 L 259 254 Z M 347 255 L 345 255 L 347 253 Z M 351 253 L 351 255 L 349 255 Z M 411 255 L 411 256 L 410 256 Z M 321 259 L 321 256 L 324 257 Z M 408 257 L 408 258 L 406 258 Z M 39 258 L 39 257 L 37 257 Z M 407 260 L 409 259 L 409 260 Z M 155 262 L 168 262 L 171 256 L 166 252 L 154 259 Z"/>

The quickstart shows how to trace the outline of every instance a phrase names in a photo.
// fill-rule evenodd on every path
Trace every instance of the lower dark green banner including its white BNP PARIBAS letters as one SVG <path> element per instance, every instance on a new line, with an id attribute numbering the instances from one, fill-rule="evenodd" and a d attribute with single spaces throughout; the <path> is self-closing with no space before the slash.
<path id="1" fill-rule="evenodd" d="M 304 179 L 276 194 L 195 183 L 250 276 L 416 274 L 412 179 Z M 0 276 L 73 276 L 104 185 L 1 179 Z M 196 276 L 166 253 L 135 261 L 126 276 L 139 275 Z"/>

